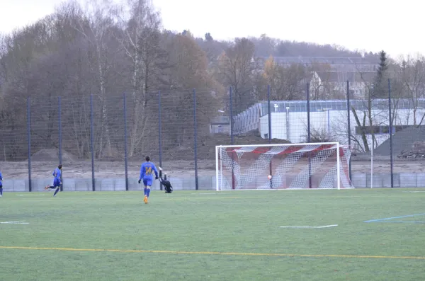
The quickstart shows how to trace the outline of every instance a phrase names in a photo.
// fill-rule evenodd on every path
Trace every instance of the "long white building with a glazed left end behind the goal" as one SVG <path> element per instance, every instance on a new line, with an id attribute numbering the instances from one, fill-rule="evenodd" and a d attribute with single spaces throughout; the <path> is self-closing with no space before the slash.
<path id="1" fill-rule="evenodd" d="M 375 147 L 389 138 L 389 108 L 386 99 L 373 101 L 372 125 L 369 124 L 368 107 L 366 101 L 353 100 L 351 107 L 355 109 L 357 119 L 350 110 L 351 144 L 363 146 L 362 130 L 370 146 L 371 132 L 375 134 Z M 392 102 L 392 132 L 403 130 L 406 127 L 419 125 L 425 115 L 425 99 L 419 99 L 416 105 L 409 100 Z M 366 115 L 366 117 L 365 117 Z M 415 122 L 416 120 L 416 122 Z M 268 138 L 268 103 L 261 102 L 234 117 L 234 132 L 244 133 L 259 130 L 261 137 Z M 332 141 L 341 144 L 348 143 L 348 110 L 347 101 L 310 101 L 310 132 L 312 135 L 320 134 Z M 271 101 L 271 137 L 273 139 L 287 139 L 293 143 L 307 142 L 307 102 L 306 101 Z"/>

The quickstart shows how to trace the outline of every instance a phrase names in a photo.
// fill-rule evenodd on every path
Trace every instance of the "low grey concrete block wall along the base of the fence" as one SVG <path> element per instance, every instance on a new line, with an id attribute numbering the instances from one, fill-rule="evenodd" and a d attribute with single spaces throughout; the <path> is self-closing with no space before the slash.
<path id="1" fill-rule="evenodd" d="M 370 188 L 370 173 L 353 173 L 351 182 L 354 188 Z M 373 188 L 390 188 L 390 173 L 374 173 Z M 174 190 L 195 190 L 193 177 L 169 178 Z M 395 188 L 425 188 L 425 173 L 394 173 Z M 51 185 L 51 178 L 34 178 L 31 180 L 33 191 L 44 190 L 45 185 Z M 96 191 L 125 190 L 125 178 L 96 178 L 94 180 Z M 5 192 L 25 192 L 29 190 L 28 179 L 8 178 L 3 180 Z M 143 190 L 142 183 L 137 183 L 137 178 L 128 179 L 128 190 Z M 199 176 L 198 188 L 200 190 L 215 190 L 215 176 Z M 152 190 L 159 190 L 159 181 L 154 180 Z M 64 178 L 64 191 L 92 191 L 91 178 Z"/>

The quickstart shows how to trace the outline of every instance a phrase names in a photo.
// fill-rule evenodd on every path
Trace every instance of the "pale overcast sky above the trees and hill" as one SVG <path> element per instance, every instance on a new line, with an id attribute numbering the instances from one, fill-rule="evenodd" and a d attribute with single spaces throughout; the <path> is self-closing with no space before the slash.
<path id="1" fill-rule="evenodd" d="M 81 0 L 84 1 L 84 0 Z M 118 1 L 118 0 L 116 0 Z M 215 39 L 259 36 L 350 50 L 425 55 L 420 0 L 152 0 L 164 28 Z M 62 0 L 0 0 L 0 33 L 52 13 Z M 422 3 L 424 2 L 424 3 Z"/>

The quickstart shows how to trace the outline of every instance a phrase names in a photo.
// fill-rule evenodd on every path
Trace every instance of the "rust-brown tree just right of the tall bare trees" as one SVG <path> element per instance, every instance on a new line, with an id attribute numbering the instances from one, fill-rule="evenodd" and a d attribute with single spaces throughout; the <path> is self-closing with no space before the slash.
<path id="1" fill-rule="evenodd" d="M 197 123 L 200 129 L 207 128 L 210 117 L 217 113 L 217 92 L 222 87 L 208 73 L 208 58 L 194 40 L 190 32 L 176 35 L 168 46 L 169 58 L 173 65 L 169 84 L 172 103 L 167 106 L 164 120 L 167 139 L 171 144 L 181 146 L 186 140 L 193 139 L 193 92 L 196 88 Z M 164 130 L 165 131 L 165 130 Z M 201 132 L 204 130 L 200 130 Z"/>

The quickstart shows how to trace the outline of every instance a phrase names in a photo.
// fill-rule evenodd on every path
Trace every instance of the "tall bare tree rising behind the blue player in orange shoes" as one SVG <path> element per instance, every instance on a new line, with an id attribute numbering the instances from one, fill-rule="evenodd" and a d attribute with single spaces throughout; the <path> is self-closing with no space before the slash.
<path id="1" fill-rule="evenodd" d="M 132 120 L 130 130 L 129 155 L 136 149 L 142 151 L 145 131 L 149 122 L 149 88 L 162 84 L 162 69 L 165 68 L 166 53 L 162 49 L 159 27 L 159 14 L 154 11 L 149 0 L 128 0 L 120 13 L 117 13 L 121 25 L 117 35 L 125 56 L 130 62 Z M 145 142 L 147 144 L 149 142 Z M 140 145 L 142 144 L 142 147 Z"/>

